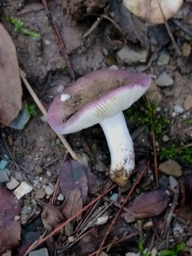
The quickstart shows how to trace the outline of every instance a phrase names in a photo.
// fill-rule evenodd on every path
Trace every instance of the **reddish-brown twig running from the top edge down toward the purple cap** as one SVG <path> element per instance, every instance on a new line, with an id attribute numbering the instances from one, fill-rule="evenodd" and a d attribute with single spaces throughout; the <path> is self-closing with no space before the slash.
<path id="1" fill-rule="evenodd" d="M 66 65 L 67 65 L 67 68 L 69 70 L 70 76 L 72 77 L 72 79 L 75 79 L 75 74 L 74 74 L 73 68 L 72 68 L 72 66 L 70 64 L 70 60 L 69 60 L 67 51 L 65 49 L 64 41 L 61 38 L 61 35 L 60 35 L 59 31 L 58 31 L 58 28 L 57 28 L 57 26 L 55 24 L 55 21 L 52 19 L 52 16 L 51 16 L 51 14 L 49 12 L 49 9 L 48 9 L 48 6 L 47 6 L 47 0 L 42 0 L 42 3 L 44 5 L 45 11 L 47 13 L 48 20 L 51 22 L 53 31 L 55 32 L 55 37 L 57 39 L 58 45 L 59 45 L 60 50 L 62 52 L 64 61 L 65 61 Z"/>

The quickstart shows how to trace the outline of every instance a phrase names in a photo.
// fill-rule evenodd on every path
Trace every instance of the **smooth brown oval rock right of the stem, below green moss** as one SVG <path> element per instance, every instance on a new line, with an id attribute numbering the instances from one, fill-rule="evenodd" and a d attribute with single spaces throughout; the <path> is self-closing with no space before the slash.
<path id="1" fill-rule="evenodd" d="M 183 174 L 180 164 L 172 159 L 160 163 L 158 169 L 160 170 L 160 172 L 163 172 L 163 174 L 171 175 L 175 178 L 178 178 Z"/>

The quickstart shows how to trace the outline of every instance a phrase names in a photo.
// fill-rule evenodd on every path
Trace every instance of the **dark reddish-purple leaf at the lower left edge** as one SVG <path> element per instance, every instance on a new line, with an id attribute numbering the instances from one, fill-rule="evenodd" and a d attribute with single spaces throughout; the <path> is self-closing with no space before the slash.
<path id="1" fill-rule="evenodd" d="M 17 200 L 9 189 L 0 186 L 0 255 L 19 245 L 21 226 L 14 219 L 17 215 L 20 215 Z"/>

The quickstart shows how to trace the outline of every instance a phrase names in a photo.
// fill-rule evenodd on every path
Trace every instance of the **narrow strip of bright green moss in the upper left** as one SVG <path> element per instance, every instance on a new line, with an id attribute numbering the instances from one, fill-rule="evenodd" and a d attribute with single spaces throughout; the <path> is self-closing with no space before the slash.
<path id="1" fill-rule="evenodd" d="M 23 26 L 23 21 L 18 20 L 17 18 L 12 17 L 12 16 L 8 16 L 8 15 L 4 15 L 3 17 L 5 18 L 5 20 L 12 23 L 12 25 L 14 26 L 15 31 L 20 32 L 20 33 L 25 34 L 25 35 L 29 35 L 32 38 L 40 38 L 41 37 L 41 35 L 39 33 L 26 29 Z"/>

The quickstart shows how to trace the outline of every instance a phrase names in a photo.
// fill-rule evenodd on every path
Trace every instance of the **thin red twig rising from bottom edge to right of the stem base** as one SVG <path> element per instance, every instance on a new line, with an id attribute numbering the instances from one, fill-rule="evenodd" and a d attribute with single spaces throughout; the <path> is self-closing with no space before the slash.
<path id="1" fill-rule="evenodd" d="M 143 172 L 141 173 L 140 177 L 137 179 L 136 183 L 135 183 L 134 186 L 131 188 L 130 192 L 128 193 L 127 197 L 125 198 L 125 201 L 123 202 L 122 207 L 119 209 L 119 211 L 117 212 L 115 218 L 114 218 L 113 221 L 111 222 L 111 225 L 109 226 L 109 228 L 108 228 L 108 230 L 107 230 L 107 232 L 106 232 L 106 234 L 105 234 L 105 236 L 104 236 L 104 239 L 102 240 L 102 243 L 100 244 L 100 247 L 99 247 L 99 250 L 98 250 L 97 253 L 96 253 L 96 256 L 98 256 L 99 253 L 101 252 L 102 247 L 103 247 L 103 245 L 104 245 L 104 243 L 105 243 L 105 240 L 107 239 L 108 234 L 109 234 L 109 232 L 111 231 L 111 228 L 113 227 L 113 224 L 115 223 L 115 221 L 116 221 L 117 218 L 119 217 L 119 215 L 120 215 L 120 213 L 121 213 L 121 211 L 122 211 L 122 208 L 123 208 L 123 207 L 125 206 L 125 204 L 127 203 L 128 198 L 130 197 L 130 195 L 131 195 L 132 192 L 134 191 L 135 187 L 137 186 L 137 184 L 140 182 L 141 178 L 143 177 L 143 175 L 144 175 L 146 169 L 148 168 L 148 164 L 149 164 L 149 161 L 148 161 L 148 163 L 147 163 L 145 169 L 144 169 Z"/>

